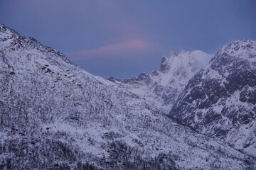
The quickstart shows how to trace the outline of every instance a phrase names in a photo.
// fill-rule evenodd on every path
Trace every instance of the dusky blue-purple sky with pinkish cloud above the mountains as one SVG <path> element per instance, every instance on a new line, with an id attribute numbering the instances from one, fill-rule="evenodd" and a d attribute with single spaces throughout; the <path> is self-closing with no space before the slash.
<path id="1" fill-rule="evenodd" d="M 255 0 L 0 0 L 0 22 L 101 77 L 158 69 L 162 55 L 256 40 Z"/>

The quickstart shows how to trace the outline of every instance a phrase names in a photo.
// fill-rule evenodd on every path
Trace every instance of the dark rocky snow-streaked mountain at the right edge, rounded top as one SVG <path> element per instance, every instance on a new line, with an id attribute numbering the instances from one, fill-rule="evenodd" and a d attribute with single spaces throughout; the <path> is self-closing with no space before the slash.
<path id="1" fill-rule="evenodd" d="M 256 42 L 222 47 L 188 82 L 171 118 L 256 157 Z"/>

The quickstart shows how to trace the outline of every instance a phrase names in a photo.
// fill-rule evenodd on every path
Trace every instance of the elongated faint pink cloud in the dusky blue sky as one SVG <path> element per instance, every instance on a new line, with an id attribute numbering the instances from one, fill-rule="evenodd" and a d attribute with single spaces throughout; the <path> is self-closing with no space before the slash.
<path id="1" fill-rule="evenodd" d="M 103 47 L 94 49 L 94 50 L 79 50 L 75 52 L 68 52 L 67 55 L 73 58 L 87 58 L 87 57 L 104 57 L 104 56 L 112 56 L 112 57 L 122 57 L 125 53 L 131 52 L 141 52 L 150 50 L 151 46 L 149 42 L 145 40 L 127 40 L 124 42 L 119 42 L 116 44 L 105 45 Z"/>

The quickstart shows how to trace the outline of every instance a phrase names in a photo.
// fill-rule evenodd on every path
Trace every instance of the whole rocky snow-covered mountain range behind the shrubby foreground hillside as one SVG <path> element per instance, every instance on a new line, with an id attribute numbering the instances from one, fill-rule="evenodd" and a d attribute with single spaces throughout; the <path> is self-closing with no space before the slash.
<path id="1" fill-rule="evenodd" d="M 203 135 L 256 157 L 256 42 L 237 40 L 213 55 L 171 52 L 159 70 L 107 78 Z"/>

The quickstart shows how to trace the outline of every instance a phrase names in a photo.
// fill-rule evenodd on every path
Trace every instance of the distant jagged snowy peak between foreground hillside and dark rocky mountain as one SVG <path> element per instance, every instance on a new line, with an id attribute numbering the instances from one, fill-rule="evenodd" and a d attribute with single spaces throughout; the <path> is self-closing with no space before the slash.
<path id="1" fill-rule="evenodd" d="M 144 98 L 165 113 L 169 113 L 178 95 L 200 69 L 206 66 L 213 55 L 194 50 L 176 55 L 170 52 L 162 57 L 161 67 L 149 74 L 142 73 L 132 79 L 109 77 L 110 81 Z"/>

